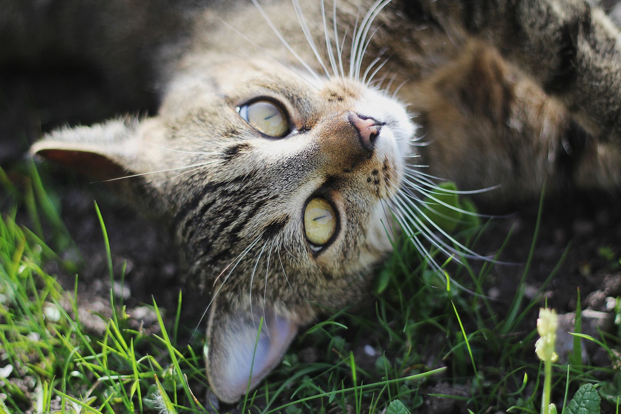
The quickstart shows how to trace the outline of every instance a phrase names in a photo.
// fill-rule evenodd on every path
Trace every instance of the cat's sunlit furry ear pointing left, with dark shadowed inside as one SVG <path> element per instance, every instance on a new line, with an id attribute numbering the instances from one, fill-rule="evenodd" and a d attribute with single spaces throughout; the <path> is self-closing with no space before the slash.
<path id="1" fill-rule="evenodd" d="M 128 118 L 67 127 L 47 134 L 30 151 L 99 180 L 118 178 L 131 170 L 140 145 L 138 125 Z"/>

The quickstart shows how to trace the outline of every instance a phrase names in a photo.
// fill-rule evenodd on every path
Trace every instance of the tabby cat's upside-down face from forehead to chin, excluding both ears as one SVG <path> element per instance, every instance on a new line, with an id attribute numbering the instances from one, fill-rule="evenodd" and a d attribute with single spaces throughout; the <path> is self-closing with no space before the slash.
<path id="1" fill-rule="evenodd" d="M 193 257 L 205 254 L 201 267 L 223 272 L 224 290 L 238 285 L 236 296 L 249 286 L 233 273 L 260 275 L 270 254 L 286 256 L 286 265 L 274 261 L 268 271 L 284 273 L 269 289 L 279 298 L 293 290 L 298 301 L 306 291 L 304 301 L 329 305 L 350 296 L 333 295 L 333 285 L 366 272 L 390 249 L 392 220 L 382 203 L 397 191 L 410 152 L 414 130 L 404 109 L 355 82 L 311 82 L 266 62 L 227 62 L 212 75 L 201 83 L 210 89 L 180 116 L 165 115 L 185 104 L 175 94 L 162 109 L 169 133 L 158 158 L 183 151 L 183 162 L 197 166 L 165 178 L 179 241 L 193 246 Z M 310 235 L 317 201 L 332 216 L 315 229 L 326 232 L 324 240 Z M 237 262 L 235 272 L 225 270 Z M 257 279 L 263 292 L 265 277 Z"/>

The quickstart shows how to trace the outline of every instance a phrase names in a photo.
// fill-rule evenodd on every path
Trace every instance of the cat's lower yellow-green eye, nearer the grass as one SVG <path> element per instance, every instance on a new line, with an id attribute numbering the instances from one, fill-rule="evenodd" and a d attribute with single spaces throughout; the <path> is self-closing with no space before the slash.
<path id="1" fill-rule="evenodd" d="M 304 231 L 311 248 L 319 251 L 332 239 L 336 230 L 337 214 L 330 203 L 322 197 L 312 198 L 304 211 Z"/>

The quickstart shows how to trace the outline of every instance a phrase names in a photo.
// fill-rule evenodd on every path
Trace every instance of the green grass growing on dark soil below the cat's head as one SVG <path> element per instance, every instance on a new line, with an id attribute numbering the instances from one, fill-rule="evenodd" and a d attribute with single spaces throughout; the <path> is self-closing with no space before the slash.
<path id="1" fill-rule="evenodd" d="M 214 407 L 206 398 L 204 338 L 195 336 L 189 344 L 175 340 L 183 329 L 179 308 L 163 317 L 156 303 L 150 304 L 158 329 L 147 334 L 111 293 L 105 298 L 111 315 L 91 315 L 105 328 L 94 333 L 84 324 L 79 278 L 61 287 L 45 271 L 55 262 L 59 272 L 79 272 L 79 262 L 55 254 L 73 248 L 58 218 L 58 202 L 34 167 L 21 174 L 25 179 L 16 185 L 0 171 L 0 414 L 402 413 L 438 401 L 455 402 L 462 412 L 540 412 L 537 298 L 527 300 L 519 290 L 507 299 L 512 301 L 507 315 L 499 315 L 483 292 L 492 264 L 448 263 L 452 277 L 474 293 L 465 292 L 447 286 L 403 241 L 378 270 L 373 295 L 361 308 L 335 310 L 301 331 L 258 389 L 237 407 Z M 18 216 L 30 224 L 16 223 Z M 103 220 L 101 226 L 104 237 L 114 231 Z M 476 232 L 463 239 L 475 243 Z M 123 269 L 110 266 L 111 277 L 121 280 Z M 178 301 L 180 307 L 181 295 Z M 619 346 L 609 334 L 579 338 L 597 341 L 611 356 Z M 557 406 L 579 385 L 591 383 L 599 384 L 602 397 L 615 407 L 618 368 L 556 364 L 552 372 Z"/>

